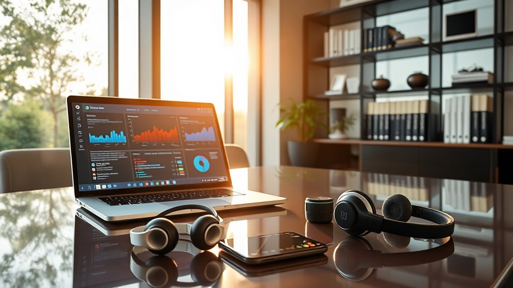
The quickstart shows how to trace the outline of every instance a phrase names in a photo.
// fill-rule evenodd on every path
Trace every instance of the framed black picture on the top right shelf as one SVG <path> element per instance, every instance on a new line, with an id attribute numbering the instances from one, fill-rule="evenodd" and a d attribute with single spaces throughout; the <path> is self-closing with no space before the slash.
<path id="1" fill-rule="evenodd" d="M 477 10 L 460 11 L 445 15 L 445 40 L 477 36 Z"/>

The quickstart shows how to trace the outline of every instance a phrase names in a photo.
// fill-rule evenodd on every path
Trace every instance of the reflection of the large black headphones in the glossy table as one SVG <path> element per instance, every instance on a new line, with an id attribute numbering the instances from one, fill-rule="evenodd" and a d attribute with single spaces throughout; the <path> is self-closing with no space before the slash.
<path id="1" fill-rule="evenodd" d="M 440 261 L 454 253 L 452 237 L 430 241 L 440 246 L 422 251 L 383 253 L 372 250 L 364 238 L 349 237 L 333 251 L 333 262 L 342 276 L 352 281 L 361 281 L 368 278 L 374 268 L 426 264 Z"/>

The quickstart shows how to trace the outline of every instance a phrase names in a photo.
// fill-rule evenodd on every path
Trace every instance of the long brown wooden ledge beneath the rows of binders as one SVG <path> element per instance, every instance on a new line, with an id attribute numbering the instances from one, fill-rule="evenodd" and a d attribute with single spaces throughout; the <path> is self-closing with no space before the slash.
<path id="1" fill-rule="evenodd" d="M 452 144 L 443 142 L 403 142 L 403 141 L 374 141 L 360 139 L 313 139 L 312 142 L 346 144 L 346 145 L 381 145 L 381 146 L 409 146 L 409 147 L 440 147 L 440 148 L 468 148 L 468 149 L 513 149 L 513 145 L 504 144 Z"/>

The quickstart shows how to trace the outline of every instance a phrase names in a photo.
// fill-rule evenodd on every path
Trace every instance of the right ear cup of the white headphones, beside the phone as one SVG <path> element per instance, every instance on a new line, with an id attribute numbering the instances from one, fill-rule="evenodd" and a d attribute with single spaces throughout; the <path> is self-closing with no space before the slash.
<path id="1" fill-rule="evenodd" d="M 219 229 L 219 220 L 212 215 L 203 215 L 196 219 L 191 227 L 191 242 L 201 250 L 216 246 L 223 236 Z"/>

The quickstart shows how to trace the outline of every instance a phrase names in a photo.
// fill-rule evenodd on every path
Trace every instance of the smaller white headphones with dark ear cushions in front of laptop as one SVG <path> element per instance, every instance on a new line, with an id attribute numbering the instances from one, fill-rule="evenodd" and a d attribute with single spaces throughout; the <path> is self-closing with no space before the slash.
<path id="1" fill-rule="evenodd" d="M 192 225 L 174 224 L 171 220 L 163 218 L 169 213 L 185 209 L 199 209 L 209 212 L 210 215 L 200 216 Z M 146 226 L 130 230 L 130 242 L 133 246 L 144 247 L 162 255 L 174 249 L 180 234 L 188 234 L 195 247 L 209 250 L 223 239 L 224 231 L 223 219 L 213 208 L 201 204 L 187 204 L 167 209 L 150 220 Z"/>

